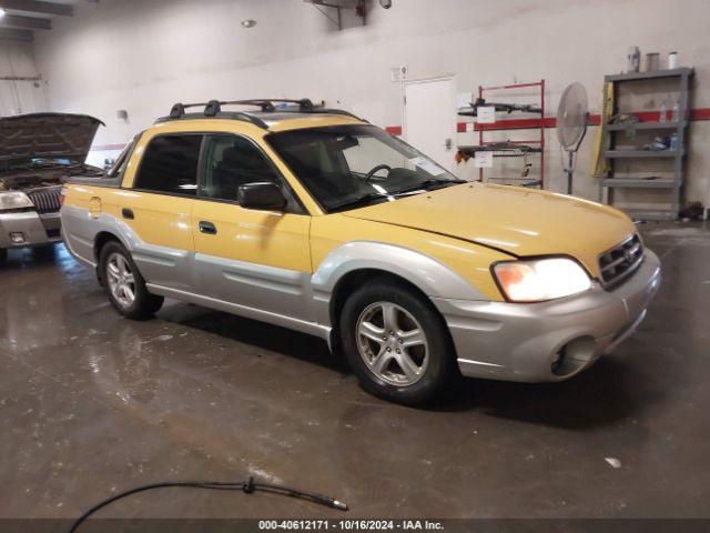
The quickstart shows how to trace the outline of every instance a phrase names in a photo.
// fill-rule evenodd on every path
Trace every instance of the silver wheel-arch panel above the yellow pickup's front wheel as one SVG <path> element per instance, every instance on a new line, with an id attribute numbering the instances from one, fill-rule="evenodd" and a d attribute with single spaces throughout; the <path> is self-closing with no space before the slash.
<path id="1" fill-rule="evenodd" d="M 398 275 L 429 298 L 488 300 L 469 282 L 429 255 L 394 244 L 355 241 L 328 253 L 313 274 L 313 299 L 320 323 L 331 322 L 329 302 L 337 282 L 353 271 L 368 269 Z"/>

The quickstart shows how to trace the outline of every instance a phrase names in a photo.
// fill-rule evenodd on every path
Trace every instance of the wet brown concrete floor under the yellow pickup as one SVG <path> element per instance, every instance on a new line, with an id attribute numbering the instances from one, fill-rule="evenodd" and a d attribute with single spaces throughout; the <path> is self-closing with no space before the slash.
<path id="1" fill-rule="evenodd" d="M 349 516 L 709 516 L 710 228 L 647 224 L 665 281 L 640 331 L 560 384 L 467 381 L 428 410 L 363 393 L 321 341 L 170 302 L 131 322 L 62 247 L 0 268 L 0 517 L 248 474 Z M 607 457 L 617 460 L 615 467 Z M 337 516 L 165 490 L 103 516 Z"/>

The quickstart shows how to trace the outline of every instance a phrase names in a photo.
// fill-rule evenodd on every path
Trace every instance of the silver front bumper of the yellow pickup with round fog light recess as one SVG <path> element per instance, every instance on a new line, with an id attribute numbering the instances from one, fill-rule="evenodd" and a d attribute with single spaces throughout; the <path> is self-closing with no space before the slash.
<path id="1" fill-rule="evenodd" d="M 448 324 L 464 375 L 561 381 L 633 332 L 660 281 L 660 261 L 647 250 L 639 269 L 613 291 L 596 285 L 579 295 L 527 304 L 433 301 Z"/>

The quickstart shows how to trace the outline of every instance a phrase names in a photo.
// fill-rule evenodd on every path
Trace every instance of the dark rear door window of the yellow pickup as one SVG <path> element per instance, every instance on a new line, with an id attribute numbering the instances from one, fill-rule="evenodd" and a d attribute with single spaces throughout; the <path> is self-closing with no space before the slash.
<path id="1" fill-rule="evenodd" d="M 145 149 L 133 187 L 194 197 L 202 138 L 201 134 L 154 138 Z"/>

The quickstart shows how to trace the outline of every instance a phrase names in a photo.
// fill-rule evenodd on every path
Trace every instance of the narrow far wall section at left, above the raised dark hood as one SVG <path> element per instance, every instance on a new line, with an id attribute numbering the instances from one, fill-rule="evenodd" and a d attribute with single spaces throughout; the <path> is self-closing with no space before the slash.
<path id="1" fill-rule="evenodd" d="M 44 92 L 29 42 L 0 39 L 0 115 L 44 111 Z"/>

